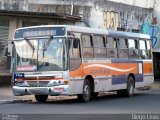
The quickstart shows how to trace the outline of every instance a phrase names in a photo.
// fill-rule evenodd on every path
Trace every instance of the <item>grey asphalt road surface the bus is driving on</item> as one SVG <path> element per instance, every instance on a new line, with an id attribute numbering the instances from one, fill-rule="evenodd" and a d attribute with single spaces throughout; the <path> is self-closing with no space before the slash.
<path id="1" fill-rule="evenodd" d="M 2 90 L 1 90 L 2 92 Z M 159 114 L 160 89 L 136 91 L 131 98 L 117 97 L 115 93 L 105 93 L 88 103 L 79 103 L 76 97 L 49 97 L 46 103 L 38 103 L 33 96 L 14 97 L 0 92 L 0 114 Z M 88 115 L 87 115 L 88 116 Z M 42 117 L 42 116 L 41 116 Z M 65 118 L 66 116 L 64 116 Z M 102 115 L 101 115 L 102 117 Z M 108 117 L 110 117 L 108 115 Z M 119 116 L 118 116 L 119 117 Z M 124 117 L 124 116 L 123 116 Z M 127 117 L 131 117 L 127 116 Z M 132 116 L 134 117 L 134 116 Z M 160 120 L 160 116 L 158 116 Z M 95 117 L 94 117 L 95 118 Z M 106 118 L 106 117 L 104 117 Z M 27 118 L 28 119 L 28 118 Z M 124 118 L 123 118 L 124 119 Z M 126 118 L 128 119 L 128 118 Z"/>

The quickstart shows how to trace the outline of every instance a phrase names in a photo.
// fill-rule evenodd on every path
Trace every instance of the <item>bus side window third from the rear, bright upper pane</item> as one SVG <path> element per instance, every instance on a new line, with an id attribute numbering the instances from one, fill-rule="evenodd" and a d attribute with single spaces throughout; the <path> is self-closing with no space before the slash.
<path id="1" fill-rule="evenodd" d="M 138 43 L 136 40 L 128 39 L 129 58 L 138 58 Z"/>

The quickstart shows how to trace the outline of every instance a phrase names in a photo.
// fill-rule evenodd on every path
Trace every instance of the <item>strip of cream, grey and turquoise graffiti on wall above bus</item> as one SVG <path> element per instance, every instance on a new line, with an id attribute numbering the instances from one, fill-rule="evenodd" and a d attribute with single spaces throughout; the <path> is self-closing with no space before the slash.
<path id="1" fill-rule="evenodd" d="M 133 29 L 143 34 L 151 36 L 153 48 L 160 48 L 158 41 L 160 28 L 157 25 L 156 18 L 150 17 L 151 14 L 138 14 L 136 11 L 104 11 L 104 28 L 117 30 L 117 28 L 124 28 L 125 31 L 132 31 Z"/>

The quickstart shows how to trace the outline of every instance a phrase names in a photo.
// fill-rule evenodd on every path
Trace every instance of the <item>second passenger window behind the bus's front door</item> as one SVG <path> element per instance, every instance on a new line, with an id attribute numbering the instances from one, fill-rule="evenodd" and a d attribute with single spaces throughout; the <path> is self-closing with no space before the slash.
<path id="1" fill-rule="evenodd" d="M 103 36 L 93 36 L 95 58 L 106 58 L 105 39 Z"/>

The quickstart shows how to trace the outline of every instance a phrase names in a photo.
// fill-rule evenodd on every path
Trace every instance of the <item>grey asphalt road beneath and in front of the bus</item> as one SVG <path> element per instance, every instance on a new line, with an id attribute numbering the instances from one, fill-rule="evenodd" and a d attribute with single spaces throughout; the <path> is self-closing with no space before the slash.
<path id="1" fill-rule="evenodd" d="M 141 117 L 149 120 L 147 117 L 150 113 L 156 115 L 156 120 L 160 120 L 160 89 L 136 91 L 131 98 L 117 97 L 115 93 L 102 94 L 88 103 L 79 103 L 76 97 L 64 96 L 49 97 L 49 100 L 43 104 L 36 102 L 33 96 L 9 96 L 9 98 L 5 98 L 4 95 L 0 97 L 2 120 L 6 120 L 7 115 L 11 118 L 18 117 L 18 120 L 24 118 L 143 120 Z M 137 114 L 140 117 L 137 117 Z"/>

